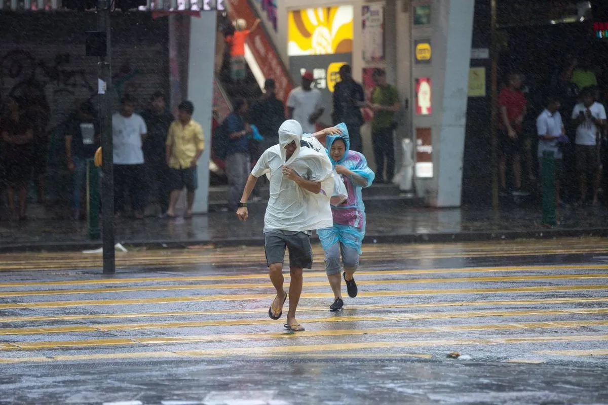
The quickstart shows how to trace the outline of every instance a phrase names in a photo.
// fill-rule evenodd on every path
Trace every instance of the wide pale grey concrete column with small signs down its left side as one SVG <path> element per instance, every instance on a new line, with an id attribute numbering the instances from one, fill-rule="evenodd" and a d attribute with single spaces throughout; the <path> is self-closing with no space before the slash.
<path id="1" fill-rule="evenodd" d="M 412 24 L 412 46 L 430 39 L 432 53 L 430 62 L 420 63 L 412 52 L 412 81 L 432 80 L 432 113 L 416 114 L 414 86 L 412 133 L 416 141 L 416 128 L 431 130 L 433 177 L 417 179 L 416 188 L 431 206 L 460 206 L 475 1 L 415 1 L 412 6 L 421 4 L 430 4 L 431 21 L 427 26 Z"/>

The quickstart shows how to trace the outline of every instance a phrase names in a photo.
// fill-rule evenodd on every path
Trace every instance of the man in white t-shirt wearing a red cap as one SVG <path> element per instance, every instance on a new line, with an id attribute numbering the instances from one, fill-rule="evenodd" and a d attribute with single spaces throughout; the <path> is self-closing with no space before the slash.
<path id="1" fill-rule="evenodd" d="M 321 92 L 313 89 L 313 81 L 313 73 L 304 72 L 302 86 L 291 90 L 287 99 L 287 118 L 298 121 L 305 134 L 316 132 L 315 123 L 325 111 Z"/>

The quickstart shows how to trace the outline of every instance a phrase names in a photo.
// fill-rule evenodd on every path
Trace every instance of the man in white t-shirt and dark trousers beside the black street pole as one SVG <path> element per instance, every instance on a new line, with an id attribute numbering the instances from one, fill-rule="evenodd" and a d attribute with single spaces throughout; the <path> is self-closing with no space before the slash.
<path id="1" fill-rule="evenodd" d="M 123 213 L 126 188 L 134 216 L 142 219 L 146 194 L 142 140 L 148 129 L 143 118 L 134 111 L 134 100 L 125 95 L 120 100 L 120 112 L 112 115 L 114 214 L 120 217 Z"/>

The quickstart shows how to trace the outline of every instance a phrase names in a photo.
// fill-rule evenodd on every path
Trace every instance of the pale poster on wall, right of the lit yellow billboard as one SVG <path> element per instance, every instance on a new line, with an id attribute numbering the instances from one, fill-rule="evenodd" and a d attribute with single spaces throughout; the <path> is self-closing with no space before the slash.
<path id="1" fill-rule="evenodd" d="M 364 5 L 361 15 L 363 60 L 384 60 L 384 4 Z"/>

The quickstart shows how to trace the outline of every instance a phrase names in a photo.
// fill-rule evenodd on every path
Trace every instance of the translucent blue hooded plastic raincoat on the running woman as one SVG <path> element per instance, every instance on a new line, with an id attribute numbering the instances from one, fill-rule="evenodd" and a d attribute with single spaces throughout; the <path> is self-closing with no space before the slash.
<path id="1" fill-rule="evenodd" d="M 340 123 L 336 127 L 342 130 L 342 134 L 327 135 L 325 141 L 326 152 L 330 155 L 331 164 L 334 168 L 336 165 L 345 166 L 354 175 L 358 176 L 364 184 L 356 182 L 353 175 L 341 176 L 348 191 L 348 199 L 339 206 L 331 207 L 334 225 L 331 228 L 317 230 L 317 234 L 323 250 L 331 247 L 336 242 L 342 242 L 361 254 L 361 243 L 365 236 L 365 206 L 361 197 L 361 189 L 371 186 L 375 174 L 367 167 L 367 160 L 365 160 L 364 155 L 350 150 L 350 139 L 346 124 Z M 344 155 L 337 162 L 333 160 L 330 154 L 331 145 L 336 139 L 344 140 L 346 145 Z"/>

